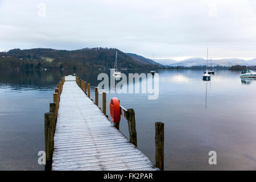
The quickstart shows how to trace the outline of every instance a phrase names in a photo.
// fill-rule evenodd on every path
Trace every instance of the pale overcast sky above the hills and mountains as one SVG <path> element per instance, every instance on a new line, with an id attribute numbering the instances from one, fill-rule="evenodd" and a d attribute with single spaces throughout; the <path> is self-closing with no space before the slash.
<path id="1" fill-rule="evenodd" d="M 44 11 L 45 9 L 45 11 Z M 0 0 L 0 51 L 118 48 L 182 60 L 256 57 L 256 0 Z"/>

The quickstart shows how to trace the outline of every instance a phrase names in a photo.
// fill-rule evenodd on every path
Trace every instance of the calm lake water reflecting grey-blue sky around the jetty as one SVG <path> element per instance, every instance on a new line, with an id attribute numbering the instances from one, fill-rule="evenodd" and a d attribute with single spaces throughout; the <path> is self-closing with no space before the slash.
<path id="1" fill-rule="evenodd" d="M 97 86 L 101 72 L 78 71 L 77 75 Z M 166 170 L 255 170 L 256 80 L 241 80 L 238 72 L 216 71 L 207 82 L 202 80 L 203 72 L 158 71 L 157 100 L 148 100 L 145 93 L 108 93 L 108 115 L 112 97 L 135 110 L 138 148 L 152 162 L 154 123 L 164 122 Z M 38 164 L 38 151 L 44 150 L 44 113 L 56 84 L 70 74 L 0 71 L 0 170 L 44 169 Z M 101 107 L 101 94 L 99 103 Z M 125 119 L 120 130 L 129 137 Z M 209 151 L 216 151 L 217 165 L 208 163 Z"/>

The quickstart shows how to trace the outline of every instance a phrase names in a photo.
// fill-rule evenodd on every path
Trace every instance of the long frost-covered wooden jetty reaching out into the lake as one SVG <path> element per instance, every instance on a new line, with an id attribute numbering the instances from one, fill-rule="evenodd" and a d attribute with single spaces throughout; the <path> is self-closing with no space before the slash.
<path id="1" fill-rule="evenodd" d="M 106 93 L 101 111 L 95 90 L 94 103 L 85 81 L 65 76 L 59 82 L 45 114 L 46 170 L 159 170 L 137 148 L 134 113 L 129 117 L 122 107 L 121 114 L 134 125 L 130 130 L 129 124 L 129 141 L 105 115 Z"/>

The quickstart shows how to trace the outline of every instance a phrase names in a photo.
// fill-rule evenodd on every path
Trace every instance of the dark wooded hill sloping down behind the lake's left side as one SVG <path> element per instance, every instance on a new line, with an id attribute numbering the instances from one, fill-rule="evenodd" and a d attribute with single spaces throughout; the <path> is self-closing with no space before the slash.
<path id="1" fill-rule="evenodd" d="M 118 69 L 152 69 L 152 63 L 155 63 L 155 69 L 163 68 L 163 65 L 143 56 L 115 48 L 84 48 L 71 51 L 17 48 L 0 52 L 0 69 L 109 69 L 114 68 L 116 51 Z"/>

